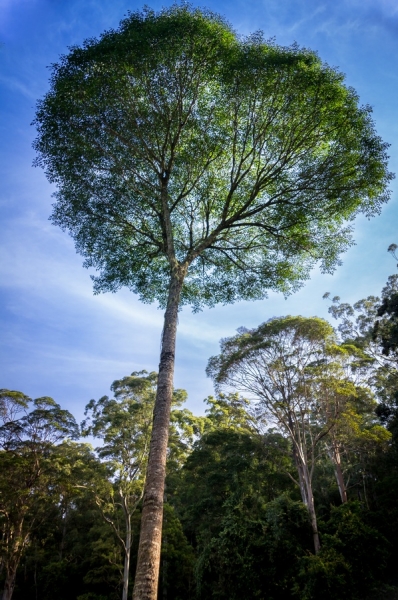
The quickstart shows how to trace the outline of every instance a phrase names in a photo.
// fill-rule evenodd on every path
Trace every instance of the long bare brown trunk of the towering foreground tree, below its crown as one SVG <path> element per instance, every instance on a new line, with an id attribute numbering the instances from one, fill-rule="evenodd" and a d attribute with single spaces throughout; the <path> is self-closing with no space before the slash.
<path id="1" fill-rule="evenodd" d="M 157 599 L 178 307 L 184 276 L 185 272 L 175 267 L 164 317 L 133 600 Z"/>

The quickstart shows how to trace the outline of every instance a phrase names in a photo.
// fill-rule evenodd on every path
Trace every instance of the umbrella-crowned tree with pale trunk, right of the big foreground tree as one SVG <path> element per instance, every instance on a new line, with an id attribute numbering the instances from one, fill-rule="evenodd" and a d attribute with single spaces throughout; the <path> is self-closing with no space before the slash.
<path id="1" fill-rule="evenodd" d="M 335 341 L 333 328 L 323 319 L 274 318 L 222 340 L 221 353 L 207 367 L 216 388 L 249 394 L 258 413 L 291 440 L 316 553 L 320 542 L 312 480 L 317 448 L 335 424 L 336 407 L 331 414 L 330 399 L 320 397 L 314 370 L 326 368 Z"/>

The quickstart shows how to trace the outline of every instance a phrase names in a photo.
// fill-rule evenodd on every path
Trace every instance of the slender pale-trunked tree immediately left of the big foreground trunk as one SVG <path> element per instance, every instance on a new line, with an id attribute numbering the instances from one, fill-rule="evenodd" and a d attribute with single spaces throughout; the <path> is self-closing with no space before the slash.
<path id="1" fill-rule="evenodd" d="M 96 501 L 114 530 L 124 554 L 122 600 L 127 600 L 130 556 L 133 539 L 131 519 L 144 491 L 152 414 L 157 383 L 156 373 L 134 372 L 114 381 L 115 398 L 91 400 L 85 410 L 83 434 L 102 439 L 98 456 L 105 459 L 109 478 L 94 483 Z M 119 508 L 123 524 L 118 522 Z"/>

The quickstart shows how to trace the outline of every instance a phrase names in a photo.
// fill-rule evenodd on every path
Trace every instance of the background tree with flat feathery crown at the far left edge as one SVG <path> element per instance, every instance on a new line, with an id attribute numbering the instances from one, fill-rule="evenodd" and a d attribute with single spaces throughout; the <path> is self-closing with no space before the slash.
<path id="1" fill-rule="evenodd" d="M 16 572 L 32 530 L 45 514 L 54 484 L 53 446 L 77 435 L 72 415 L 52 398 L 32 400 L 0 390 L 0 560 L 3 600 L 11 600 Z"/>

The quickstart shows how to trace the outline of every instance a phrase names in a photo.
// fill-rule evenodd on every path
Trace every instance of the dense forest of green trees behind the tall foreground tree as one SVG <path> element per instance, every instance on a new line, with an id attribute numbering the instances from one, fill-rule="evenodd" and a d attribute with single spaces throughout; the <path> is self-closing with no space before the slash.
<path id="1" fill-rule="evenodd" d="M 397 282 L 335 297 L 336 330 L 283 317 L 222 340 L 204 416 L 174 391 L 159 600 L 398 597 Z M 1 390 L 3 598 L 128 597 L 156 384 L 88 403 L 96 450 L 51 398 Z"/>

